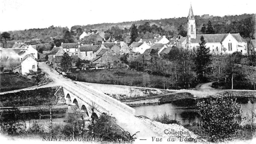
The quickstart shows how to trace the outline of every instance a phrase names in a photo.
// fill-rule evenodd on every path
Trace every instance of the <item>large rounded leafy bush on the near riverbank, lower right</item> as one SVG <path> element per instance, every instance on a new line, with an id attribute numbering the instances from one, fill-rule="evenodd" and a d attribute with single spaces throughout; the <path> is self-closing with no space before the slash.
<path id="1" fill-rule="evenodd" d="M 209 140 L 224 141 L 231 138 L 240 128 L 242 121 L 241 105 L 230 97 L 211 100 L 209 103 L 198 102 L 199 114 L 203 121 L 204 131 L 209 134 Z"/>

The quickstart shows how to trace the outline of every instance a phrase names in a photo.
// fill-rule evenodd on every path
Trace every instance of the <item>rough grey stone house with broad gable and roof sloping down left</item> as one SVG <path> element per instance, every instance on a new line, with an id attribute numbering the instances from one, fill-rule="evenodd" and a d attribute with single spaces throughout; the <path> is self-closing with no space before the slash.
<path id="1" fill-rule="evenodd" d="M 110 48 L 102 48 L 91 63 L 96 64 L 96 67 L 108 66 L 118 61 L 118 57 Z"/>

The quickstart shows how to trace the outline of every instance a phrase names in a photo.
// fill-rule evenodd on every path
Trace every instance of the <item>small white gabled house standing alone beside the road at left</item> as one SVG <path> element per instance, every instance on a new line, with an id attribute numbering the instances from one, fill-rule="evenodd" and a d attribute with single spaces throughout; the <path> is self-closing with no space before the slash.
<path id="1" fill-rule="evenodd" d="M 31 54 L 27 54 L 21 60 L 21 74 L 25 75 L 26 73 L 29 74 L 29 70 L 37 71 L 37 61 L 35 60 L 34 56 Z"/>

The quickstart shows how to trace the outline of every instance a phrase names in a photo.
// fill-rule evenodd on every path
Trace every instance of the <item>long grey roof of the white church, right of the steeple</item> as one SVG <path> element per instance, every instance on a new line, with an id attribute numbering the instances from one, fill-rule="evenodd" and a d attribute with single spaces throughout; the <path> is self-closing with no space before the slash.
<path id="1" fill-rule="evenodd" d="M 212 42 L 212 43 L 217 43 L 217 42 L 222 42 L 229 34 L 197 34 L 196 39 L 191 39 L 192 43 L 200 43 L 201 36 L 204 37 L 204 40 L 206 42 Z M 232 33 L 231 34 L 238 42 L 246 42 L 239 33 Z"/>

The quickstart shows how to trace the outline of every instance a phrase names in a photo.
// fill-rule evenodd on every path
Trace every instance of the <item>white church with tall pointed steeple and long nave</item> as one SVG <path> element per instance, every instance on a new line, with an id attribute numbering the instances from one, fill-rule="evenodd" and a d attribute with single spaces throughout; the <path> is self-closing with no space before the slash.
<path id="1" fill-rule="evenodd" d="M 232 54 L 236 51 L 247 54 L 247 41 L 239 33 L 226 34 L 196 34 L 196 20 L 193 14 L 192 5 L 190 4 L 188 14 L 187 39 L 182 42 L 182 47 L 195 50 L 199 46 L 201 36 L 206 41 L 206 47 L 213 54 Z"/>

